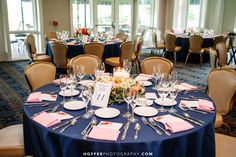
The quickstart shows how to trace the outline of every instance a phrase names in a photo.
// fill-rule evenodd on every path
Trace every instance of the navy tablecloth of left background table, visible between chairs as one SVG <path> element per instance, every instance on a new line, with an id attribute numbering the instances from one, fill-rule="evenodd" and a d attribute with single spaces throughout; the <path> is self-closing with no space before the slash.
<path id="1" fill-rule="evenodd" d="M 114 42 L 110 44 L 105 44 L 104 53 L 103 53 L 103 61 L 109 57 L 119 57 L 120 55 L 120 44 L 121 42 Z M 67 45 L 68 53 L 67 58 L 73 58 L 80 54 L 84 54 L 83 44 L 76 45 Z M 48 42 L 46 45 L 46 54 L 52 56 L 50 43 Z"/>

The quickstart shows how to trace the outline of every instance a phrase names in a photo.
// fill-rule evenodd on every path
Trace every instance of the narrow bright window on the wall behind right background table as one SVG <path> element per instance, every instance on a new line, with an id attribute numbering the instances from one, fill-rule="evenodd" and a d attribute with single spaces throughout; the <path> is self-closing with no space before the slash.
<path id="1" fill-rule="evenodd" d="M 190 0 L 188 6 L 187 27 L 199 27 L 201 0 Z"/>

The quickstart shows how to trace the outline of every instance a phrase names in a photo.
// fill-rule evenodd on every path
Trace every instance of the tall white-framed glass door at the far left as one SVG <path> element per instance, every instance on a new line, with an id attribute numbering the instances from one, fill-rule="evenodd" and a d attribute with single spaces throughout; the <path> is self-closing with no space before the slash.
<path id="1" fill-rule="evenodd" d="M 7 0 L 7 14 L 11 59 L 26 59 L 26 35 L 34 34 L 37 49 L 40 45 L 37 0 Z"/>

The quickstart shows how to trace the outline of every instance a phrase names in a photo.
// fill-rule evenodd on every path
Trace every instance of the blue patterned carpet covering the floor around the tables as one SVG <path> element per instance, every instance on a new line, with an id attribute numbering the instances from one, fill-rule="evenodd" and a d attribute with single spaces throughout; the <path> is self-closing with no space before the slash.
<path id="1" fill-rule="evenodd" d="M 141 58 L 149 53 L 142 52 Z M 0 62 L 0 129 L 12 124 L 22 123 L 22 104 L 29 94 L 29 88 L 24 78 L 24 68 L 29 61 Z M 207 75 L 210 64 L 177 63 L 175 69 L 178 72 L 178 80 L 198 86 L 205 92 Z M 226 119 L 236 119 L 236 108 Z M 217 130 L 223 132 L 224 129 Z M 232 136 L 236 137 L 236 126 L 232 130 Z"/>

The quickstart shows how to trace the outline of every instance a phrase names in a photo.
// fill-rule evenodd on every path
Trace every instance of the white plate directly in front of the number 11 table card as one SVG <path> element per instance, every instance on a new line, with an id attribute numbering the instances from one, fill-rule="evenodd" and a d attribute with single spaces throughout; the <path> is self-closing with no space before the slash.
<path id="1" fill-rule="evenodd" d="M 120 111 L 115 108 L 100 108 L 95 111 L 95 115 L 100 118 L 114 118 L 120 114 Z"/>

